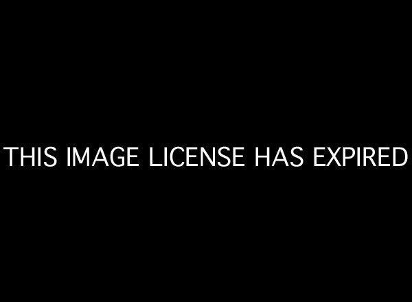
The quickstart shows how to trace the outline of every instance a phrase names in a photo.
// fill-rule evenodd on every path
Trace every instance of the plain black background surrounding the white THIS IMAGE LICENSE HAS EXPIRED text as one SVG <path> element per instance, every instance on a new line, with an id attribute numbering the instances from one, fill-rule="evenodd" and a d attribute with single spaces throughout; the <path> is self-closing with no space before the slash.
<path id="1" fill-rule="evenodd" d="M 8 283 L 211 297 L 402 287 L 410 163 L 316 169 L 311 150 L 410 152 L 407 20 L 370 8 L 170 9 L 10 16 L 1 146 L 247 146 L 248 167 L 3 165 Z M 255 146 L 308 156 L 301 169 L 257 170 Z"/>

